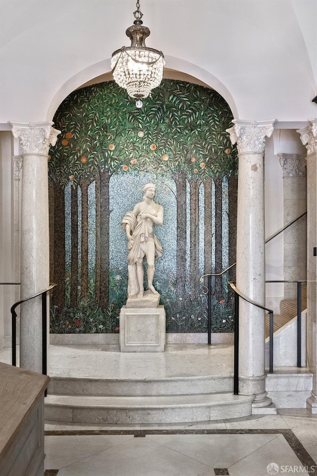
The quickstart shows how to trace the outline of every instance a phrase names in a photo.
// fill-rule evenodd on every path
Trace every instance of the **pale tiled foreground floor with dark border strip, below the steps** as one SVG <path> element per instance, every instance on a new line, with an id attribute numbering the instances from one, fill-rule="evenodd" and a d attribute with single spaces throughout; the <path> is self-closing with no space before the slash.
<path id="1" fill-rule="evenodd" d="M 317 417 L 304 409 L 184 424 L 47 422 L 45 444 L 47 476 L 317 474 Z"/>

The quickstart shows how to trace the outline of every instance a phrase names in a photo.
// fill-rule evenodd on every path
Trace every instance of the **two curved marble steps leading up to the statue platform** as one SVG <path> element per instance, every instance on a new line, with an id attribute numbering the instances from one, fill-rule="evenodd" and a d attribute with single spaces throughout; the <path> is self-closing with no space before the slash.
<path id="1" fill-rule="evenodd" d="M 53 377 L 47 420 L 100 423 L 193 422 L 252 413 L 253 397 L 233 395 L 232 375 L 156 379 Z"/>

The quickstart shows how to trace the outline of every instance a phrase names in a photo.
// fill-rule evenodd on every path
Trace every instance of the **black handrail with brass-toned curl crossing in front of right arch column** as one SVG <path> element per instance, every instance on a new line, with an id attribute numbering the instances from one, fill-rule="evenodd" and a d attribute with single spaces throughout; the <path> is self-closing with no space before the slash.
<path id="1" fill-rule="evenodd" d="M 234 283 L 229 283 L 234 292 L 234 364 L 233 364 L 233 393 L 239 394 L 239 297 L 269 313 L 269 332 L 273 336 L 273 310 L 253 301 L 239 291 Z M 273 339 L 269 342 L 269 372 L 273 373 Z"/>

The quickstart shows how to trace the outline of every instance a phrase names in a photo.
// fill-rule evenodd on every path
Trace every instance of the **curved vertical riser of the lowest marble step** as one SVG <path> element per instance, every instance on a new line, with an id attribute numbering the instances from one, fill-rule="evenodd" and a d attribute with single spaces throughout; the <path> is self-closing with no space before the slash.
<path id="1" fill-rule="evenodd" d="M 94 424 L 180 423 L 249 416 L 252 402 L 179 408 L 71 408 L 45 406 L 45 418 L 53 421 Z"/>

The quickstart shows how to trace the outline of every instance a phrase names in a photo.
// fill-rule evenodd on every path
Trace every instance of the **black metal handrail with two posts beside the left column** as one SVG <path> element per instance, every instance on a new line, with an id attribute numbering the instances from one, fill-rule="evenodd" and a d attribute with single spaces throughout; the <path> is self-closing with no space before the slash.
<path id="1" fill-rule="evenodd" d="M 34 297 L 42 296 L 42 373 L 47 375 L 47 293 L 49 293 L 56 284 L 51 284 L 47 289 L 41 291 L 40 293 L 35 294 L 34 296 L 27 297 L 26 299 L 21 299 L 18 302 L 15 302 L 11 306 L 11 326 L 12 326 L 12 365 L 16 366 L 16 318 L 17 313 L 15 312 L 16 307 L 22 302 L 29 301 Z"/>

